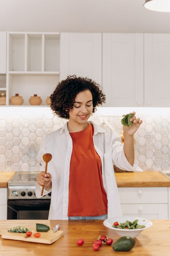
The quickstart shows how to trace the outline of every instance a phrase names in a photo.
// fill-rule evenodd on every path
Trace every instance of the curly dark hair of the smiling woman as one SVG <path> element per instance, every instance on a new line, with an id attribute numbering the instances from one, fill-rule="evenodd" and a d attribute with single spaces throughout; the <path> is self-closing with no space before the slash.
<path id="1" fill-rule="evenodd" d="M 69 111 L 73 108 L 75 97 L 81 91 L 90 90 L 93 100 L 92 113 L 96 111 L 96 106 L 105 103 L 105 94 L 100 90 L 99 84 L 87 77 L 67 76 L 56 86 L 51 94 L 50 107 L 59 117 L 69 119 Z"/>

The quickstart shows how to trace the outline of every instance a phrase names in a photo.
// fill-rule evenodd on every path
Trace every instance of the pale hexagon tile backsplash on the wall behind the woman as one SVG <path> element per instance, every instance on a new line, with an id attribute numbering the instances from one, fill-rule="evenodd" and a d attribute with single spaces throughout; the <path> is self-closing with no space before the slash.
<path id="1" fill-rule="evenodd" d="M 135 133 L 135 162 L 143 171 L 170 168 L 170 116 L 139 116 L 143 123 Z M 90 120 L 109 125 L 122 133 L 122 116 L 104 116 L 95 112 Z M 0 117 L 0 171 L 39 171 L 38 152 L 41 141 L 62 127 L 67 120 L 52 113 L 35 115 L 9 114 Z"/>

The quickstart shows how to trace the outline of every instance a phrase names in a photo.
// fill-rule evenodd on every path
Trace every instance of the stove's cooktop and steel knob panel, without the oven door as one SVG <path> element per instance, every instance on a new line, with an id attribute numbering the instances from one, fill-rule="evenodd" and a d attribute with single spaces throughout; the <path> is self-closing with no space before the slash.
<path id="1" fill-rule="evenodd" d="M 8 181 L 8 199 L 37 199 L 35 196 L 35 184 L 39 172 L 16 172 Z M 51 193 L 41 197 L 50 199 Z"/>

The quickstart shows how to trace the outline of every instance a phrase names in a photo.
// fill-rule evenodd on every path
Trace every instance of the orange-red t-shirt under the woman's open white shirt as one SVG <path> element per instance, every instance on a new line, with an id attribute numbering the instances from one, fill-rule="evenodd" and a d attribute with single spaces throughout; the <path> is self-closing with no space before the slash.
<path id="1" fill-rule="evenodd" d="M 93 144 L 94 127 L 90 124 L 71 132 L 73 150 L 70 161 L 68 216 L 107 214 L 107 195 L 103 187 L 100 156 Z"/>

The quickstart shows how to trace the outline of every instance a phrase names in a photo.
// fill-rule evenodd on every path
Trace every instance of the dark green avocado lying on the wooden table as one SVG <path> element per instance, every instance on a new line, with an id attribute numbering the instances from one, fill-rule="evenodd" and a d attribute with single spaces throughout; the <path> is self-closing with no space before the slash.
<path id="1" fill-rule="evenodd" d="M 135 245 L 135 240 L 131 237 L 121 237 L 113 245 L 112 248 L 116 252 L 128 252 Z"/>

